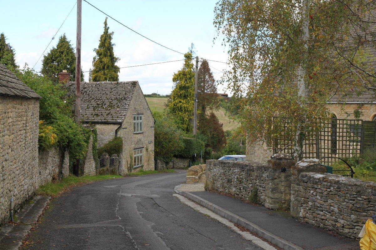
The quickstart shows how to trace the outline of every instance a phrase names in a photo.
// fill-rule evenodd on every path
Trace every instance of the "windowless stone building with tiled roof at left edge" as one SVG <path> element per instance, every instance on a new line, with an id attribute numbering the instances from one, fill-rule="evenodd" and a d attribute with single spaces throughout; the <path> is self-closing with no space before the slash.
<path id="1" fill-rule="evenodd" d="M 39 186 L 39 99 L 0 63 L 0 225 Z"/>

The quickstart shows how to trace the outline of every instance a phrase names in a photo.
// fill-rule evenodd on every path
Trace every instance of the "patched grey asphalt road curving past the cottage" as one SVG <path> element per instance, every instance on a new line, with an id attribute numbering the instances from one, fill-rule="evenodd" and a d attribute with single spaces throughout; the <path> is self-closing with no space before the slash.
<path id="1" fill-rule="evenodd" d="M 261 250 L 183 204 L 185 171 L 97 181 L 53 199 L 23 249 Z"/>

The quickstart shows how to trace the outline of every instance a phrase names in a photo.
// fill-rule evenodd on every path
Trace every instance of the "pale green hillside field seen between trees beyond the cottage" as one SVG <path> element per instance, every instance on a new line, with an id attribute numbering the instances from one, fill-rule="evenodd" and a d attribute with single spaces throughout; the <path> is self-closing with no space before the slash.
<path id="1" fill-rule="evenodd" d="M 164 104 L 167 102 L 166 97 L 158 97 L 158 98 L 157 97 L 145 97 L 145 98 L 152 112 L 154 111 L 162 112 L 165 109 Z M 231 120 L 226 115 L 226 110 L 224 110 L 223 108 L 220 108 L 218 111 L 215 111 L 214 113 L 215 115 L 217 115 L 220 123 L 223 123 L 224 131 L 236 129 L 240 125 L 238 121 Z"/>

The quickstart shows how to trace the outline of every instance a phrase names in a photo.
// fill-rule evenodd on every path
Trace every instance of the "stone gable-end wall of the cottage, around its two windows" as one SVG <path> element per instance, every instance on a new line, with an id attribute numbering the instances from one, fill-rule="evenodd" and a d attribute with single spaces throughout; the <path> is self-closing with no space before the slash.
<path id="1" fill-rule="evenodd" d="M 133 133 L 133 115 L 143 115 L 143 132 Z M 126 118 L 118 135 L 123 138 L 121 173 L 137 172 L 133 167 L 133 150 L 143 148 L 143 169 L 154 170 L 154 118 L 139 85 L 136 86 Z"/>

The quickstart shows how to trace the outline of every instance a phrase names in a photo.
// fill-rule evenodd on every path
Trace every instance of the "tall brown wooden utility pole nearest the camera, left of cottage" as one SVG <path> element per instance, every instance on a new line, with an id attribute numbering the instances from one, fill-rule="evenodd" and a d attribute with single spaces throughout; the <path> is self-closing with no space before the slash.
<path id="1" fill-rule="evenodd" d="M 77 0 L 77 37 L 76 37 L 76 102 L 74 102 L 74 121 L 80 124 L 80 81 L 81 81 L 81 6 Z"/>

